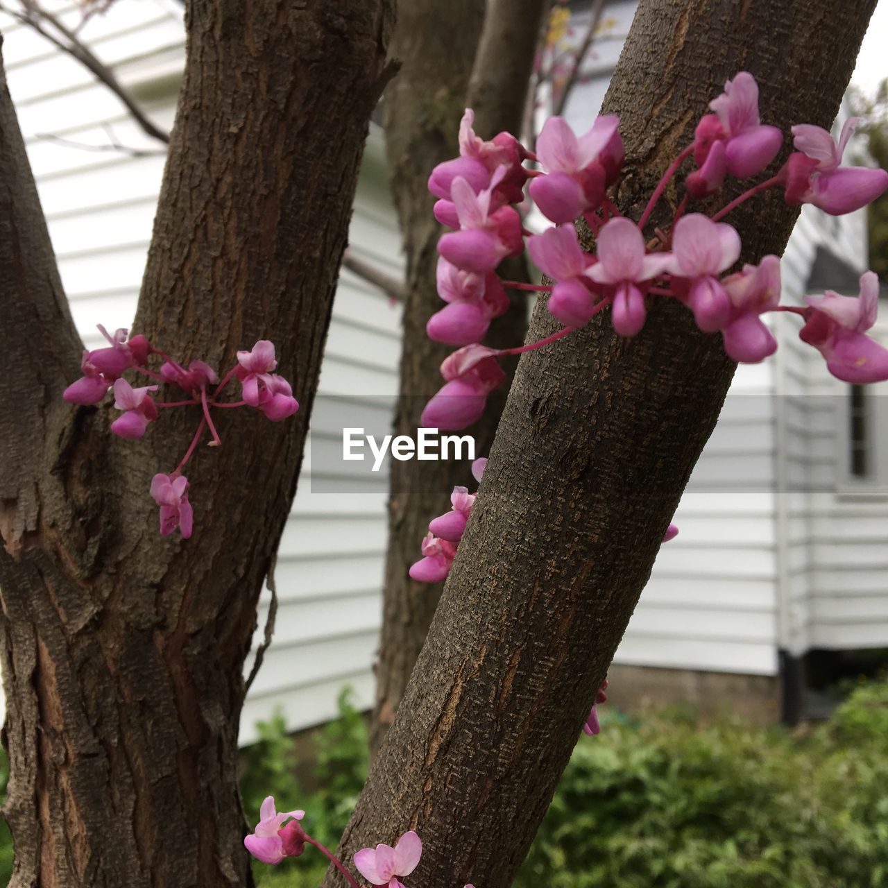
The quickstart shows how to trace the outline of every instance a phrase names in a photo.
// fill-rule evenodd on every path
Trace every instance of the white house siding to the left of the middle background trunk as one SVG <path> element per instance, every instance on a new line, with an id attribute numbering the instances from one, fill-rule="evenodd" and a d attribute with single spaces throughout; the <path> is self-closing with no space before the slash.
<path id="1" fill-rule="evenodd" d="M 79 20 L 75 4 L 46 5 L 69 23 Z M 97 323 L 109 329 L 131 324 L 164 156 L 93 152 L 41 137 L 107 145 L 103 125 L 110 124 L 113 138 L 127 147 L 157 151 L 162 146 L 139 131 L 120 102 L 73 59 L 5 17 L 0 17 L 0 29 L 10 91 L 59 271 L 77 329 L 84 344 L 94 347 L 103 341 Z M 184 60 L 181 4 L 118 0 L 106 16 L 92 19 L 82 36 L 143 97 L 141 105 L 151 118 L 169 129 Z M 362 258 L 390 274 L 401 273 L 400 236 L 379 131 L 371 134 L 365 155 L 350 240 Z M 344 271 L 319 394 L 384 396 L 371 408 L 386 412 L 397 391 L 399 355 L 398 310 L 377 289 Z M 313 429 L 314 434 L 322 431 Z M 242 742 L 250 742 L 256 721 L 278 706 L 291 729 L 335 715 L 344 684 L 353 686 L 359 702 L 372 700 L 386 531 L 385 493 L 379 491 L 385 485 L 377 485 L 375 495 L 317 493 L 309 466 L 310 453 L 281 540 L 274 644 L 243 711 Z M 257 641 L 266 613 L 267 593 Z"/>

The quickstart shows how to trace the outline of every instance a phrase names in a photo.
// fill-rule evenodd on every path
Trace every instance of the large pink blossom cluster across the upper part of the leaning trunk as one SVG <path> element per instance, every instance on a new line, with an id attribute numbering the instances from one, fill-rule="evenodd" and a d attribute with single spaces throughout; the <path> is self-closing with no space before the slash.
<path id="1" fill-rule="evenodd" d="M 820 127 L 794 126 L 796 151 L 770 178 L 717 212 L 686 213 L 689 202 L 716 194 L 726 178 L 762 173 L 783 145 L 781 131 L 760 120 L 758 86 L 748 72 L 725 83 L 710 110 L 637 221 L 622 216 L 608 194 L 623 163 L 615 115 L 599 116 L 591 130 L 579 136 L 565 120 L 551 117 L 534 154 L 508 133 L 480 139 L 472 130 L 472 111 L 465 112 L 459 157 L 441 163 L 429 178 L 429 189 L 439 198 L 435 217 L 456 230 L 443 234 L 438 245 L 438 289 L 447 305 L 432 315 L 427 332 L 436 341 L 461 347 L 441 365 L 445 385 L 424 410 L 425 426 L 456 430 L 476 422 L 489 393 L 505 379 L 498 363 L 503 355 L 549 345 L 607 308 L 614 330 L 633 337 L 657 299 L 685 305 L 702 331 L 722 337 L 734 361 L 755 363 L 773 354 L 777 342 L 764 316 L 782 311 L 803 318 L 802 339 L 821 351 L 839 379 L 888 379 L 888 350 L 867 336 L 876 321 L 874 274 L 861 278 L 858 299 L 828 292 L 805 297 L 805 307 L 781 306 L 779 258 L 765 256 L 757 264 L 736 268 L 740 234 L 720 221 L 771 187 L 780 188 L 791 204 L 810 203 L 833 215 L 875 200 L 888 188 L 888 172 L 841 166 L 856 121 L 844 124 L 837 143 Z M 527 161 L 535 168 L 526 168 Z M 686 175 L 685 194 L 670 225 L 646 235 L 664 189 L 683 163 L 691 161 L 695 169 Z M 527 199 L 554 226 L 539 234 L 527 231 L 517 209 Z M 580 246 L 573 225 L 579 217 L 591 228 L 594 251 Z M 525 249 L 551 285 L 499 279 L 496 269 L 503 259 Z M 510 288 L 548 293 L 546 306 L 564 328 L 518 348 L 481 345 L 490 321 L 506 310 L 504 290 Z M 438 559 L 448 555 L 443 546 L 430 552 Z"/>

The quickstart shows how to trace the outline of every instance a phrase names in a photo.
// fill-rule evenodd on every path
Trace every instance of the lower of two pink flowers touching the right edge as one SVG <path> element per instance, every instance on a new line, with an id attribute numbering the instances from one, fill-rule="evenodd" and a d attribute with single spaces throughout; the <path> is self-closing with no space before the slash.
<path id="1" fill-rule="evenodd" d="M 827 359 L 829 372 L 846 383 L 888 379 L 888 349 L 865 333 L 876 323 L 879 281 L 875 272 L 860 276 L 860 297 L 806 296 L 805 326 L 799 337 Z"/>

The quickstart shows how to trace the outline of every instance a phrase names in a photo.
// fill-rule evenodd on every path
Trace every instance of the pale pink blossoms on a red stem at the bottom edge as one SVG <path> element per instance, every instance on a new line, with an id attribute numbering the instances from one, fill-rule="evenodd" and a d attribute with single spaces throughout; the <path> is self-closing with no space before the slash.
<path id="1" fill-rule="evenodd" d="M 353 888 L 361 888 L 343 862 L 305 832 L 299 822 L 304 817 L 305 811 L 278 813 L 274 796 L 268 796 L 259 809 L 256 829 L 244 838 L 243 844 L 257 860 L 273 866 L 287 857 L 300 856 L 305 851 L 305 845 L 312 844 L 345 876 L 345 880 Z M 369 884 L 405 888 L 401 879 L 416 869 L 422 854 L 423 843 L 416 832 L 410 829 L 400 836 L 394 846 L 380 843 L 376 848 L 361 848 L 361 851 L 355 853 L 353 862 Z M 474 885 L 466 884 L 464 888 L 474 888 Z"/>

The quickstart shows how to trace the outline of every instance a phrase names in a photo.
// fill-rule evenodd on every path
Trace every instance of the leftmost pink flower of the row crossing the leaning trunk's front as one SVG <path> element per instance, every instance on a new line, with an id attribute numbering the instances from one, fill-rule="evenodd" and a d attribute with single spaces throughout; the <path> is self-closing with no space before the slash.
<path id="1" fill-rule="evenodd" d="M 595 259 L 580 248 L 575 227 L 559 226 L 535 234 L 527 241 L 527 250 L 536 266 L 558 281 L 546 303 L 550 313 L 567 327 L 588 323 L 601 294 L 586 274 Z"/>

